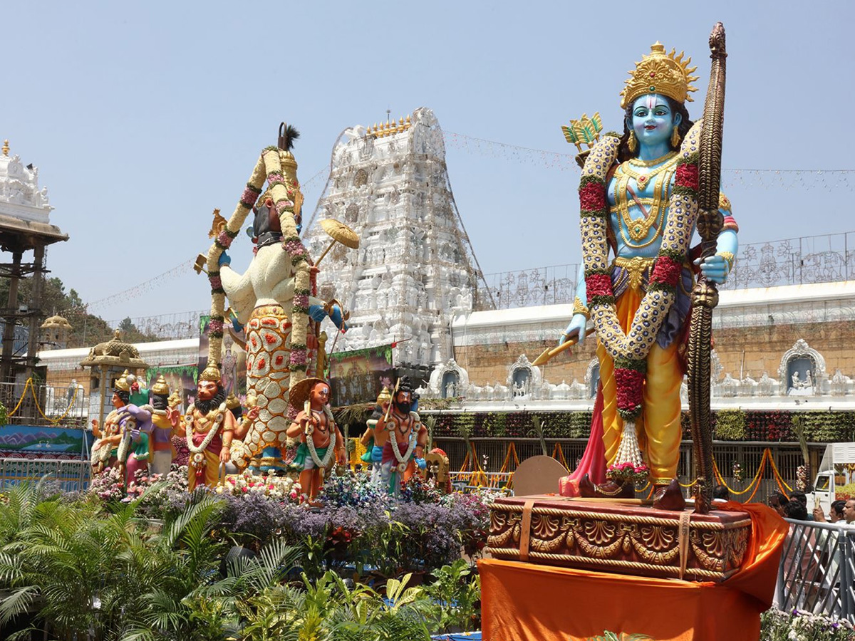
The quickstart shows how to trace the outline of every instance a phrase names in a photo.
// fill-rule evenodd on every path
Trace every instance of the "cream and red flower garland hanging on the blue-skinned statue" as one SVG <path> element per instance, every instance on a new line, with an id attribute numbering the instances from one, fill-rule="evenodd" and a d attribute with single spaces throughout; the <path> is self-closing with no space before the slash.
<path id="1" fill-rule="evenodd" d="M 676 286 L 680 282 L 698 216 L 701 126 L 702 121 L 697 121 L 681 145 L 662 244 L 647 291 L 627 333 L 623 332 L 617 320 L 607 242 L 609 206 L 606 177 L 616 161 L 620 140 L 615 136 L 605 136 L 593 147 L 582 168 L 579 201 L 587 302 L 598 337 L 615 361 L 617 411 L 624 420 L 616 463 L 632 462 L 638 466 L 642 462 L 635 419 L 641 413 L 647 354 L 674 304 Z"/>

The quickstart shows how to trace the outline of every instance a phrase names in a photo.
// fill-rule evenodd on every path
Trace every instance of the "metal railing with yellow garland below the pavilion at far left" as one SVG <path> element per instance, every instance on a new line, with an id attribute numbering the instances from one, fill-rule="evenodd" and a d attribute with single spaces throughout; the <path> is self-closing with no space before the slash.
<path id="1" fill-rule="evenodd" d="M 0 403 L 10 413 L 15 410 L 7 420 L 12 425 L 84 428 L 89 416 L 89 395 L 82 385 L 0 383 Z"/>

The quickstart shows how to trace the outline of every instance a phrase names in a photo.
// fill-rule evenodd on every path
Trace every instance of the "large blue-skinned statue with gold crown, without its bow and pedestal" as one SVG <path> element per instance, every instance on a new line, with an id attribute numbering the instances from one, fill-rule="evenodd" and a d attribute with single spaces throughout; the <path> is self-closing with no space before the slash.
<path id="1" fill-rule="evenodd" d="M 698 271 L 725 282 L 738 248 L 723 194 L 715 252 L 701 258 L 692 247 L 702 122 L 690 121 L 685 106 L 696 91 L 690 62 L 652 45 L 622 91 L 621 136 L 598 139 L 598 115 L 563 127 L 580 150 L 581 142 L 593 148 L 580 154 L 583 265 L 559 345 L 581 343 L 593 321 L 600 373 L 591 439 L 562 480 L 566 495 L 634 497 L 633 479 L 647 472 L 655 507 L 685 505 L 676 470 L 693 282 Z"/>

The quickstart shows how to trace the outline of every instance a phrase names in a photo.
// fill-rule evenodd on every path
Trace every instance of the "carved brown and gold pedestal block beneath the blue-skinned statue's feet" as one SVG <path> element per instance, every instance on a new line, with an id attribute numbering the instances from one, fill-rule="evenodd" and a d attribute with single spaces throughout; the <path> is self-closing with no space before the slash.
<path id="1" fill-rule="evenodd" d="M 751 518 L 552 495 L 500 498 L 486 551 L 498 559 L 646 577 L 722 581 L 746 556 Z"/>

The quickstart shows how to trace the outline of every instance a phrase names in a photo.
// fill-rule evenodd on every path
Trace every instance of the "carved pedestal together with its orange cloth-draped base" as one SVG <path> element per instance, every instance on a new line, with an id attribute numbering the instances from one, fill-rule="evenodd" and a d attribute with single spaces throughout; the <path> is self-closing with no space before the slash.
<path id="1" fill-rule="evenodd" d="M 787 524 L 757 503 L 718 507 L 700 516 L 551 496 L 497 501 L 493 558 L 478 563 L 484 638 L 758 638 Z"/>

